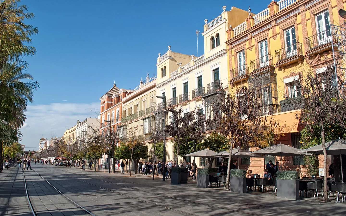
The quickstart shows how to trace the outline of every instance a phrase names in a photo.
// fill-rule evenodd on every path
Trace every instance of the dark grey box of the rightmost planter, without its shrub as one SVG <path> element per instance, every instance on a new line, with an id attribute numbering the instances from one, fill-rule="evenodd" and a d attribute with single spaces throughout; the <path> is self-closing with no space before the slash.
<path id="1" fill-rule="evenodd" d="M 277 197 L 299 199 L 299 182 L 297 180 L 276 180 Z"/>

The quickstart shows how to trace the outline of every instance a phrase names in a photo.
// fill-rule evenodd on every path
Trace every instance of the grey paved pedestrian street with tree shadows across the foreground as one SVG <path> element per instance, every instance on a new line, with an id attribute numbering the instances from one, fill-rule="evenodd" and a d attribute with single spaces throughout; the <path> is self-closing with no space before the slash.
<path id="1" fill-rule="evenodd" d="M 322 199 L 298 201 L 271 192 L 239 194 L 221 188 L 197 188 L 193 180 L 171 185 L 160 177 L 108 174 L 51 165 L 25 170 L 29 198 L 37 215 L 87 215 L 56 189 L 92 215 L 346 215 L 346 203 Z M 37 173 L 36 173 L 36 172 Z M 42 177 L 40 177 L 40 174 Z M 33 215 L 23 171 L 4 170 L 0 177 L 0 215 Z"/>

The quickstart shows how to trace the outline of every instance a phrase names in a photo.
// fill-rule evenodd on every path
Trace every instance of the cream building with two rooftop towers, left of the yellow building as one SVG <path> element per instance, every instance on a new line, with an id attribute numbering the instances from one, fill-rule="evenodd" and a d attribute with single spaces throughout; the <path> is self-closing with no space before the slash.
<path id="1" fill-rule="evenodd" d="M 244 22 L 248 12 L 235 7 L 226 11 L 212 21 L 204 20 L 204 55 L 196 57 L 175 53 L 169 50 L 157 58 L 157 94 L 165 95 L 167 105 L 183 107 L 187 113 L 193 109 L 198 112 L 209 113 L 208 98 L 216 90 L 226 88 L 229 77 L 229 62 L 227 56 L 227 29 L 229 26 L 238 26 Z M 167 140 L 167 151 L 173 151 L 173 145 Z M 173 154 L 168 160 L 176 160 Z M 177 162 L 182 158 L 179 157 Z M 204 159 L 196 160 L 198 167 L 205 166 Z M 208 166 L 208 165 L 207 165 Z"/>

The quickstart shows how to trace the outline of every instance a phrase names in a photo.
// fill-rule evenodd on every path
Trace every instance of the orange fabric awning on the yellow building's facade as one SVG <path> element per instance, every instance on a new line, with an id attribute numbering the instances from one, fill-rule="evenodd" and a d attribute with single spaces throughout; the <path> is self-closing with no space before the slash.
<path id="1" fill-rule="evenodd" d="M 295 133 L 303 129 L 299 124 L 301 111 L 288 111 L 268 115 L 267 121 L 273 122 L 276 133 Z M 276 123 L 274 123 L 276 122 Z"/>

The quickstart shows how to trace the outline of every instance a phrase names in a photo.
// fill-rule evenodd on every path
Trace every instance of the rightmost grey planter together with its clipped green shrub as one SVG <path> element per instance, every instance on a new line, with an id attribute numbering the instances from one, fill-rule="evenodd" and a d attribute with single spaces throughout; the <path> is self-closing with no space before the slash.
<path id="1" fill-rule="evenodd" d="M 299 199 L 299 182 L 297 171 L 277 171 L 277 197 Z"/>

